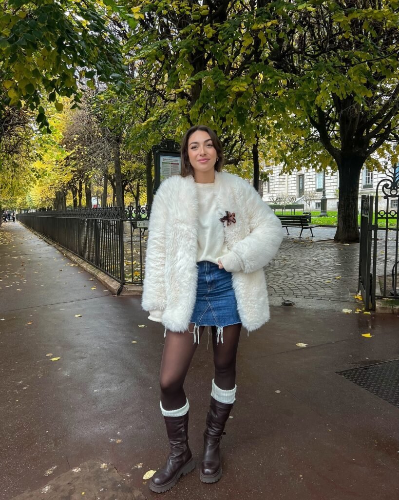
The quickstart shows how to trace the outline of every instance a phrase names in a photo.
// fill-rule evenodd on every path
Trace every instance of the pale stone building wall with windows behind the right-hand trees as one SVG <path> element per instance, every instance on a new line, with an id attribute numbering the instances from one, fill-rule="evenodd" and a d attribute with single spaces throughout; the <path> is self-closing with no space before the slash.
<path id="1" fill-rule="evenodd" d="M 387 168 L 389 168 L 390 166 L 391 163 L 388 162 Z M 298 177 L 299 175 L 304 175 L 304 190 L 317 192 L 314 201 L 312 201 L 312 210 L 317 210 L 319 207 L 316 208 L 316 202 L 320 202 L 322 196 L 322 190 L 318 190 L 316 187 L 317 186 L 316 170 L 313 168 L 305 170 L 305 168 L 303 168 L 301 171 L 295 171 L 290 174 L 281 173 L 281 170 L 282 170 L 282 165 L 277 165 L 273 167 L 273 173 L 269 177 L 268 185 L 266 182 L 264 184 L 263 200 L 266 201 L 267 203 L 273 204 L 272 198 L 275 197 L 276 195 L 296 195 L 295 203 L 303 203 L 305 205 L 305 209 L 309 209 L 303 197 L 299 196 Z M 379 181 L 386 177 L 385 172 L 373 171 L 372 187 L 369 187 L 365 186 L 365 180 L 366 180 L 365 173 L 366 173 L 365 170 L 362 170 L 359 179 L 359 208 L 361 205 L 362 194 L 375 195 Z M 337 210 L 338 198 L 336 189 L 339 187 L 338 172 L 332 172 L 331 169 L 328 169 L 326 171 L 325 182 L 326 182 L 327 210 Z M 390 208 L 392 204 L 391 200 L 390 200 Z M 396 201 L 394 201 L 394 204 L 396 204 Z M 383 199 L 381 196 L 381 189 L 379 196 L 379 206 L 380 209 L 386 208 L 386 200 Z M 395 209 L 397 208 L 395 207 Z"/>

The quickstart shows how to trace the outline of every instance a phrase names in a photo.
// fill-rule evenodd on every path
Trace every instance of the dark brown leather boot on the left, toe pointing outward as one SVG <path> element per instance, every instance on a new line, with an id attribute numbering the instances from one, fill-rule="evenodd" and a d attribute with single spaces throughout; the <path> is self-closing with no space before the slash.
<path id="1" fill-rule="evenodd" d="M 189 448 L 189 413 L 183 416 L 165 416 L 171 452 L 166 464 L 152 476 L 150 489 L 163 493 L 171 489 L 180 476 L 191 472 L 196 466 Z"/>

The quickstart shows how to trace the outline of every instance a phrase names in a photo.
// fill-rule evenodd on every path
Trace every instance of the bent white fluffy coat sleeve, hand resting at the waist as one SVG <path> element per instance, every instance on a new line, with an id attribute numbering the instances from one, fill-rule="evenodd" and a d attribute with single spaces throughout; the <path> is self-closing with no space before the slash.
<path id="1" fill-rule="evenodd" d="M 231 247 L 245 273 L 261 269 L 276 254 L 283 239 L 284 231 L 273 210 L 262 200 L 255 189 L 242 183 L 243 199 L 249 214 L 249 230 L 244 239 Z"/>

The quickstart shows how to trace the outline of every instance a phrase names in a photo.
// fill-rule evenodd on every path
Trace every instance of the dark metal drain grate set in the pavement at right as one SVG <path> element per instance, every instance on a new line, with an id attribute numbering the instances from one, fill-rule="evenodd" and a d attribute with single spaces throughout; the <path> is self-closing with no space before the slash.
<path id="1" fill-rule="evenodd" d="M 337 373 L 399 408 L 399 359 Z"/>

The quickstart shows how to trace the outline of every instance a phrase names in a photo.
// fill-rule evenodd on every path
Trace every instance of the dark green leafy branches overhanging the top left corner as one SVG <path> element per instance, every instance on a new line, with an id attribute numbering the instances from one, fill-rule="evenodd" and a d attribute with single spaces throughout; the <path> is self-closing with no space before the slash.
<path id="1" fill-rule="evenodd" d="M 0 133 L 10 108 L 38 110 L 39 126 L 48 127 L 43 98 L 60 110 L 59 96 L 78 105 L 82 84 L 94 87 L 98 79 L 123 86 L 119 41 L 107 27 L 110 3 L 2 1 Z"/>

